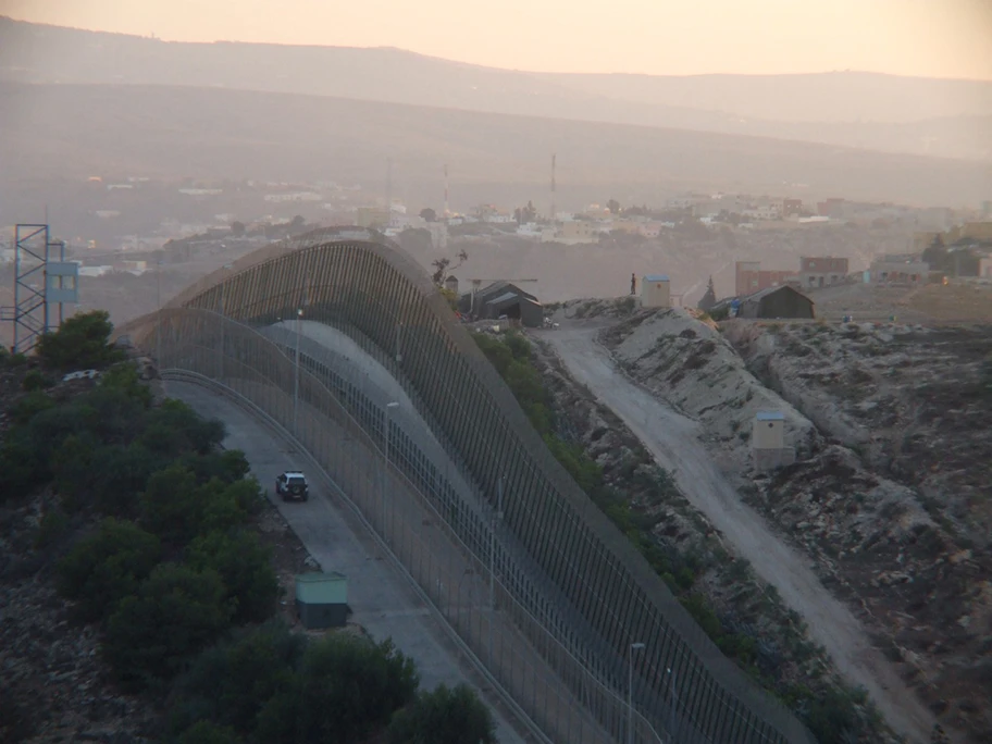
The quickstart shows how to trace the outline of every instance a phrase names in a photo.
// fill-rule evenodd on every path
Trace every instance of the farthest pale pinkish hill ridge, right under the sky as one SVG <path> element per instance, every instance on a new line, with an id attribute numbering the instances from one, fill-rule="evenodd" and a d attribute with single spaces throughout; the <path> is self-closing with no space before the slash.
<path id="1" fill-rule="evenodd" d="M 0 16 L 0 79 L 295 92 L 992 160 L 992 82 L 551 75 L 399 49 L 176 44 Z"/>

